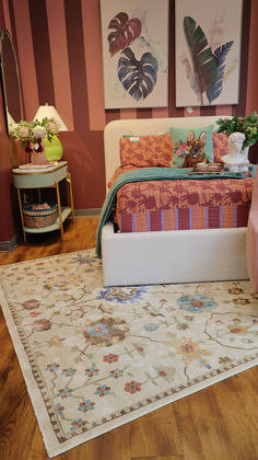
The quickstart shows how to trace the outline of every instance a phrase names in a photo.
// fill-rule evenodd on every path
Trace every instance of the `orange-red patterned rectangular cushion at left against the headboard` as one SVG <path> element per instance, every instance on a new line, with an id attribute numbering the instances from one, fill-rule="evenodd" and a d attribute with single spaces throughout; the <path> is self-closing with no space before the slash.
<path id="1" fill-rule="evenodd" d="M 172 168 L 172 137 L 166 135 L 130 136 L 120 139 L 122 166 Z"/>

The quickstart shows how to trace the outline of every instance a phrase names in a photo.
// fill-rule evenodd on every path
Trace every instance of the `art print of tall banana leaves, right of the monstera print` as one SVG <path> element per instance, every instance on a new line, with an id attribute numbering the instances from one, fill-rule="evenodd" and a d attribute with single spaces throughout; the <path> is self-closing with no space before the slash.
<path id="1" fill-rule="evenodd" d="M 176 0 L 176 106 L 239 100 L 243 0 Z"/>

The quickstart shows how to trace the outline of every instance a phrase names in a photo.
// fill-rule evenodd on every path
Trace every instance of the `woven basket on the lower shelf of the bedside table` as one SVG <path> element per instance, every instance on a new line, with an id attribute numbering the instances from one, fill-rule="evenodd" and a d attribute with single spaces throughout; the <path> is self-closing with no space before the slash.
<path id="1" fill-rule="evenodd" d="M 48 227 L 56 221 L 58 207 L 56 203 L 32 203 L 23 206 L 23 217 L 26 227 Z"/>

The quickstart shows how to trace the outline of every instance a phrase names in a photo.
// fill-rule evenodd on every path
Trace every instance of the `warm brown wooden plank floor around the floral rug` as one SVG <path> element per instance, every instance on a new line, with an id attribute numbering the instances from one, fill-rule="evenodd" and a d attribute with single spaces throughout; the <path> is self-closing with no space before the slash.
<path id="1" fill-rule="evenodd" d="M 28 235 L 0 265 L 95 245 L 97 218 Z M 0 314 L 0 460 L 47 459 L 25 382 Z M 57 460 L 256 460 L 258 368 L 249 369 L 90 440 Z"/>

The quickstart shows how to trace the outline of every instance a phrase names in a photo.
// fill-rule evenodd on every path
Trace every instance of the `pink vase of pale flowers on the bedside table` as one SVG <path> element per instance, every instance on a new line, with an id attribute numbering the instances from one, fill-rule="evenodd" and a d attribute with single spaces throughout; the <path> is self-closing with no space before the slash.
<path id="1" fill-rule="evenodd" d="M 51 141 L 54 136 L 59 131 L 59 125 L 55 118 L 45 117 L 40 122 L 34 119 L 33 122 L 21 120 L 9 126 L 10 135 L 15 140 L 21 140 L 22 147 L 25 149 L 31 162 L 33 164 L 47 164 L 48 161 L 45 156 L 44 138 Z"/>

